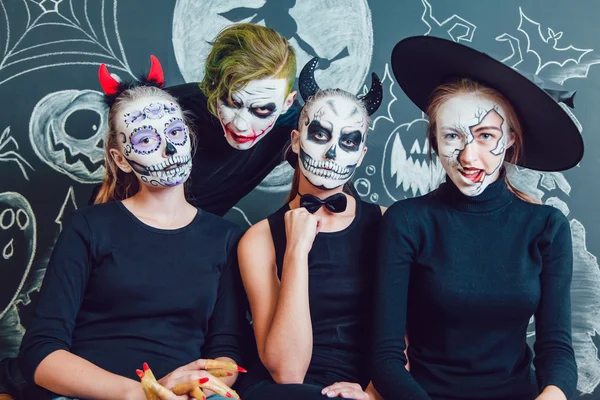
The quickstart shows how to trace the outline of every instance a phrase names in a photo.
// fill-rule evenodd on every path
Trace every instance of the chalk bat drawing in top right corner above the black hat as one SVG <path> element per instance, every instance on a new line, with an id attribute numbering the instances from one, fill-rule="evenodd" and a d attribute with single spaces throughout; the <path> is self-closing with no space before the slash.
<path id="1" fill-rule="evenodd" d="M 559 44 L 564 40 L 564 32 L 550 27 L 542 28 L 539 22 L 525 14 L 522 7 L 519 7 L 517 31 L 521 39 L 509 33 L 496 37 L 497 41 L 510 45 L 511 54 L 502 62 L 513 68 L 526 61 L 527 54 L 532 55 L 531 69 L 535 69 L 535 74 L 562 85 L 568 79 L 586 78 L 590 67 L 600 64 L 600 55 L 594 53 L 594 49 Z M 523 40 L 524 45 L 521 44 Z"/>

